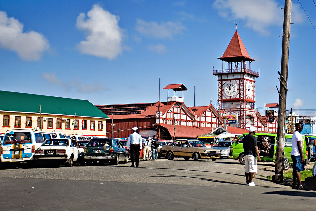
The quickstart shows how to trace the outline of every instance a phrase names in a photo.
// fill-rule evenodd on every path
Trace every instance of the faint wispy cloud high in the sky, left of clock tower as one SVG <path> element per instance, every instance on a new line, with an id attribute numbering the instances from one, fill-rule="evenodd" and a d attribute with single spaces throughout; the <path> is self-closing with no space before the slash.
<path id="1" fill-rule="evenodd" d="M 181 34 L 186 28 L 180 22 L 146 22 L 138 19 L 136 30 L 141 34 L 154 38 L 173 38 L 174 34 Z"/>

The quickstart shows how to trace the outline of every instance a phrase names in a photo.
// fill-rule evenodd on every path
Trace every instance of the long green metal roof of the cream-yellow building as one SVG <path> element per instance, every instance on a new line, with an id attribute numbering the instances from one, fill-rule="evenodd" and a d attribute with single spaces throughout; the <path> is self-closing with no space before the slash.
<path id="1" fill-rule="evenodd" d="M 0 110 L 109 118 L 87 100 L 0 90 Z"/>

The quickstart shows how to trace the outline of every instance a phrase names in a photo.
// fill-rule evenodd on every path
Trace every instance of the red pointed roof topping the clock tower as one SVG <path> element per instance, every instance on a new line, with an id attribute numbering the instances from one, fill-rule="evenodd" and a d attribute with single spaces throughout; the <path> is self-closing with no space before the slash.
<path id="1" fill-rule="evenodd" d="M 237 30 L 233 38 L 230 40 L 230 43 L 228 44 L 228 47 L 226 48 L 223 56 L 217 59 L 221 59 L 227 62 L 254 61 L 254 59 L 250 58 Z"/>

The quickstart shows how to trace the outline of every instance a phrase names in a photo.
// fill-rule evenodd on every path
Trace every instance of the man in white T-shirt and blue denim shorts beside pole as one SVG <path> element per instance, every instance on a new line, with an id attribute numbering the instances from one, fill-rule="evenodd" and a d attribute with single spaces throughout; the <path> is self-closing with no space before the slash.
<path id="1" fill-rule="evenodd" d="M 304 166 L 304 154 L 303 154 L 303 136 L 301 132 L 303 130 L 302 123 L 295 124 L 295 132 L 292 135 L 292 151 L 291 158 L 293 161 L 293 185 L 292 189 L 304 189 L 301 181 L 301 171 L 305 170 Z M 298 182 L 298 184 L 297 184 Z"/>

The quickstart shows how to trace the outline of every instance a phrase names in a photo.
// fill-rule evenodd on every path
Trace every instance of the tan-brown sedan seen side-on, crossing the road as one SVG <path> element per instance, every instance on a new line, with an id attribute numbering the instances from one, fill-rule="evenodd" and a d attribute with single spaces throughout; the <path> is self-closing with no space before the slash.
<path id="1" fill-rule="evenodd" d="M 200 158 L 215 161 L 221 155 L 220 150 L 208 148 L 202 141 L 184 139 L 175 140 L 169 145 L 162 146 L 161 152 L 163 155 L 166 155 L 168 160 L 173 160 L 173 158 L 177 157 L 185 160 L 192 158 L 194 161 Z"/>

